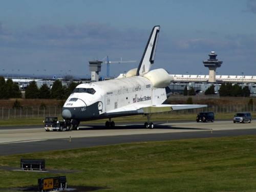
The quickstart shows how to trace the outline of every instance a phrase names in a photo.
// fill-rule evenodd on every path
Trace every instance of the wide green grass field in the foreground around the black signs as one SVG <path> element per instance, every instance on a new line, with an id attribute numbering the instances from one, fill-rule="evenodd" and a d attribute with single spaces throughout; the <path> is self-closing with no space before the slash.
<path id="1" fill-rule="evenodd" d="M 255 191 L 255 146 L 256 136 L 143 142 L 0 156 L 0 165 L 46 159 L 48 169 L 79 170 L 68 185 L 109 187 L 100 191 Z M 0 187 L 57 175 L 0 170 Z"/>

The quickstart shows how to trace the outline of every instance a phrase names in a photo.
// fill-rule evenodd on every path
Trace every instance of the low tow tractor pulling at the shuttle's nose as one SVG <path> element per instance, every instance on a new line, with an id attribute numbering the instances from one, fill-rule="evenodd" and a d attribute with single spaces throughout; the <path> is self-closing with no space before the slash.
<path id="1" fill-rule="evenodd" d="M 43 122 L 45 123 L 46 131 L 71 131 L 71 122 L 58 121 L 58 117 L 46 117 Z"/>

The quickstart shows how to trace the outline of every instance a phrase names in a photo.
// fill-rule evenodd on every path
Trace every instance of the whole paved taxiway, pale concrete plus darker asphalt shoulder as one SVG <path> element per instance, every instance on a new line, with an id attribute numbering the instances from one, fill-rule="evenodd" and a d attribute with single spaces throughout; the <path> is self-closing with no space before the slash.
<path id="1" fill-rule="evenodd" d="M 252 123 L 169 122 L 157 124 L 153 130 L 144 129 L 141 124 L 122 123 L 114 129 L 105 129 L 99 124 L 80 128 L 79 131 L 71 132 L 45 132 L 44 128 L 40 127 L 0 128 L 0 154 L 11 155 L 118 143 L 256 134 L 255 121 Z"/>

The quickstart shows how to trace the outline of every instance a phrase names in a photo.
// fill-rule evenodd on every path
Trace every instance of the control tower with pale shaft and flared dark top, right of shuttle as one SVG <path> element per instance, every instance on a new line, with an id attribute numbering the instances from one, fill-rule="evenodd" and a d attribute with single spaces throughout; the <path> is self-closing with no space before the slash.
<path id="1" fill-rule="evenodd" d="M 216 68 L 221 67 L 222 61 L 216 59 L 217 54 L 211 51 L 209 54 L 209 59 L 204 60 L 204 67 L 209 68 L 209 80 L 208 82 L 216 82 Z"/>

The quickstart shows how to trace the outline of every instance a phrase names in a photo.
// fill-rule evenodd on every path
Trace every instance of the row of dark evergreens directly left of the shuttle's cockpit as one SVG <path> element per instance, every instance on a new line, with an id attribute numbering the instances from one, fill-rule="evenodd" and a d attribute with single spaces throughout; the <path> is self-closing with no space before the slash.
<path id="1" fill-rule="evenodd" d="M 29 99 L 66 99 L 74 91 L 76 86 L 80 83 L 71 82 L 69 86 L 62 86 L 60 80 L 55 80 L 52 89 L 47 84 L 43 84 L 39 89 L 35 81 L 31 81 L 26 88 L 25 98 Z"/>

